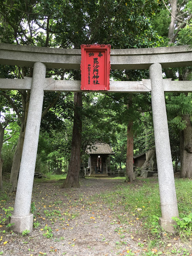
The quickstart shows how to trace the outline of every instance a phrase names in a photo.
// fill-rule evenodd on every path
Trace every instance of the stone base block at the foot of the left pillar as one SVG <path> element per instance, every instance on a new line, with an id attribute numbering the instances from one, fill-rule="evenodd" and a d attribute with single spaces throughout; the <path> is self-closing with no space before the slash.
<path id="1" fill-rule="evenodd" d="M 22 233 L 24 230 L 32 232 L 33 214 L 29 213 L 25 216 L 12 215 L 8 218 L 8 223 L 13 225 L 10 226 L 12 231 Z"/>

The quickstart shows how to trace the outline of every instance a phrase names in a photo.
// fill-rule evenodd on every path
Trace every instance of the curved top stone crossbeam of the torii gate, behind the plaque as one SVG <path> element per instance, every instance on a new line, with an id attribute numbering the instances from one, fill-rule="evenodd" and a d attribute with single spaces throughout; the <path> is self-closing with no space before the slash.
<path id="1" fill-rule="evenodd" d="M 80 68 L 80 49 L 46 48 L 0 43 L 0 64 L 33 66 L 37 61 L 49 68 Z M 188 45 L 111 49 L 111 69 L 147 69 L 152 63 L 162 67 L 192 65 L 192 48 Z"/>

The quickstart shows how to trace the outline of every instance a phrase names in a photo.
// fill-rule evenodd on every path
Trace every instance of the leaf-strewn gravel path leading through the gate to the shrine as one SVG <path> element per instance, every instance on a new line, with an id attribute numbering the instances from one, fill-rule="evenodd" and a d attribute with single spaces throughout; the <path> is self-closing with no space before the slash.
<path id="1" fill-rule="evenodd" d="M 157 255 L 155 253 L 162 251 L 156 247 L 147 250 L 147 245 L 154 238 L 143 229 L 140 220 L 123 212 L 119 205 L 111 210 L 101 197 L 94 196 L 129 183 L 122 179 L 85 178 L 80 180 L 80 188 L 63 189 L 60 188 L 61 182 L 34 182 L 32 202 L 36 208 L 33 213 L 35 227 L 29 235 L 20 235 L 7 231 L 6 225 L 1 226 L 2 255 Z M 5 205 L 1 202 L 0 213 L 3 212 L 2 207 L 8 208 L 13 203 L 14 194 L 11 194 Z M 122 215 L 129 218 L 129 224 L 120 222 Z M 4 229 L 5 233 L 2 232 Z M 166 245 L 171 243 L 172 249 L 186 248 L 192 255 L 191 240 L 183 243 L 177 236 L 163 239 L 164 251 L 169 248 Z M 183 249 L 172 255 L 184 255 Z"/>

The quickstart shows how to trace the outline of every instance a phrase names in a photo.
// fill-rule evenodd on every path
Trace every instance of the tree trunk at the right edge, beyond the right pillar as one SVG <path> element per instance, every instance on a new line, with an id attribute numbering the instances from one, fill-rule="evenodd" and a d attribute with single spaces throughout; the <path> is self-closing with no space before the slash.
<path id="1" fill-rule="evenodd" d="M 186 128 L 183 130 L 183 150 L 181 157 L 181 177 L 192 177 L 192 125 L 190 116 L 183 115 L 183 120 L 186 121 Z"/>

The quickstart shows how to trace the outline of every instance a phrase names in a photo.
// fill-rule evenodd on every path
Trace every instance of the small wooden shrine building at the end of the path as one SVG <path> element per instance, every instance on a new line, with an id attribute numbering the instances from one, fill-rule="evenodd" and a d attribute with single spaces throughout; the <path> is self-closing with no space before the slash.
<path id="1" fill-rule="evenodd" d="M 111 175 L 110 155 L 114 154 L 107 143 L 94 143 L 86 148 L 88 157 L 88 168 L 85 175 L 105 176 Z"/>

